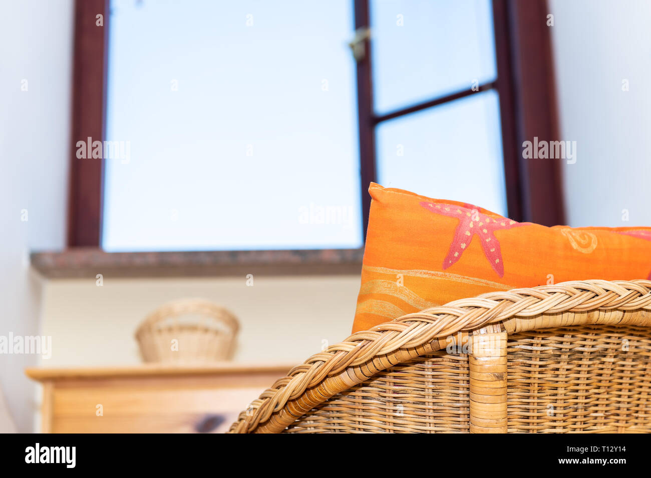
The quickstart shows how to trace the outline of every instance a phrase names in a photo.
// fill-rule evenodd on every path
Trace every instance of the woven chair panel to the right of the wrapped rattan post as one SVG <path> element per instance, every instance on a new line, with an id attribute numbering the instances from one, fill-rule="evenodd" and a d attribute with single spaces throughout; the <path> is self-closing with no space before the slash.
<path id="1" fill-rule="evenodd" d="M 651 330 L 578 326 L 514 334 L 509 432 L 651 431 Z"/>

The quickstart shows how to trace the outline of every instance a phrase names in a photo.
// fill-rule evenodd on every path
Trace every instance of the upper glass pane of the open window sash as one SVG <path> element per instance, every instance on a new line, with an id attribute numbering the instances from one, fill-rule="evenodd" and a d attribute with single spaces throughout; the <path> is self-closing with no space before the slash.
<path id="1" fill-rule="evenodd" d="M 375 108 L 387 113 L 497 76 L 490 0 L 371 0 Z"/>

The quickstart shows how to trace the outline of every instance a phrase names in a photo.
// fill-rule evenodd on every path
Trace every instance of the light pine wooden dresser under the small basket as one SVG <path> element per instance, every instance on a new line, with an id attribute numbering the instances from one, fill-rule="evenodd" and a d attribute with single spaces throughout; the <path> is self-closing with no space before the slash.
<path id="1" fill-rule="evenodd" d="M 290 365 L 27 369 L 41 382 L 42 432 L 225 432 Z"/>

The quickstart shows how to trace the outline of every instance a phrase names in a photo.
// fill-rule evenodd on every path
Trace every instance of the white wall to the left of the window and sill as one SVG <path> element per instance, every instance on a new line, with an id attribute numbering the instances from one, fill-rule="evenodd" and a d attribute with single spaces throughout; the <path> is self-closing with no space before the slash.
<path id="1" fill-rule="evenodd" d="M 31 249 L 64 245 L 72 0 L 3 1 L 0 7 L 0 335 L 39 332 L 41 282 Z M 27 91 L 21 81 L 27 80 Z M 27 209 L 27 221 L 21 210 Z M 0 387 L 18 431 L 32 431 L 33 355 L 0 355 Z M 2 430 L 0 430 L 1 432 Z"/>

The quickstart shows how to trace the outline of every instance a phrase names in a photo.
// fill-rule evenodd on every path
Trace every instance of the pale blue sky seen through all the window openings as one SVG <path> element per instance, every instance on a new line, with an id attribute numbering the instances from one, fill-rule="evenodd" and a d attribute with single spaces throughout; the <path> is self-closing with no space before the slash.
<path id="1" fill-rule="evenodd" d="M 352 3 L 112 0 L 107 140 L 129 157 L 105 161 L 102 246 L 361 246 Z M 494 79 L 490 1 L 370 6 L 378 111 Z M 495 92 L 376 136 L 383 185 L 506 213 Z"/>

